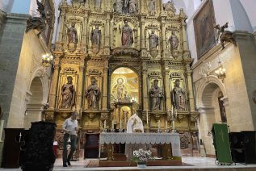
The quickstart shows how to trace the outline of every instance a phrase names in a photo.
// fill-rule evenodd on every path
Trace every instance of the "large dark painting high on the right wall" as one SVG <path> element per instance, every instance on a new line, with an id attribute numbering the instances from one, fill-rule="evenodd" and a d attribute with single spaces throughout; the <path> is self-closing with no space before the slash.
<path id="1" fill-rule="evenodd" d="M 203 56 L 205 52 L 208 52 L 216 43 L 215 25 L 216 20 L 212 0 L 208 0 L 194 18 L 195 42 L 198 58 Z"/>

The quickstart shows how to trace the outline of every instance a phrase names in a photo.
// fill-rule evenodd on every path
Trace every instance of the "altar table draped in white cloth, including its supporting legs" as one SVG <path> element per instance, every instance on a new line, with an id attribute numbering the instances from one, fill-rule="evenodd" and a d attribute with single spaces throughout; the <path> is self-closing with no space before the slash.
<path id="1" fill-rule="evenodd" d="M 178 133 L 124 133 L 102 132 L 99 135 L 99 148 L 107 144 L 107 161 L 113 161 L 113 144 L 163 144 L 163 159 L 181 159 L 180 138 Z M 171 150 L 170 145 L 171 144 Z M 100 152 L 100 149 L 99 149 Z M 100 158 L 100 156 L 99 156 Z"/>

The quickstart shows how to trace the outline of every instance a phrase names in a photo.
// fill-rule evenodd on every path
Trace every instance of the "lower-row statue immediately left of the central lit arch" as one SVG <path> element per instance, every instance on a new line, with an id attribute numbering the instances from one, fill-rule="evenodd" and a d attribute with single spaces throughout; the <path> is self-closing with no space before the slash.
<path id="1" fill-rule="evenodd" d="M 90 77 L 90 85 L 86 90 L 86 98 L 89 108 L 97 109 L 99 102 L 99 86 L 95 77 Z"/>

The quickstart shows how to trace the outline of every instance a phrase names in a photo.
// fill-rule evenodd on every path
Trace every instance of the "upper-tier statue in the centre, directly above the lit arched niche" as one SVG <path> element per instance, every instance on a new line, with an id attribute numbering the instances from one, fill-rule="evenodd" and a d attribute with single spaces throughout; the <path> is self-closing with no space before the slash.
<path id="1" fill-rule="evenodd" d="M 120 31 L 122 31 L 122 45 L 124 47 L 132 46 L 133 44 L 133 36 L 132 36 L 132 29 L 128 25 L 128 20 L 124 19 L 124 26 L 122 29 L 119 27 Z"/>

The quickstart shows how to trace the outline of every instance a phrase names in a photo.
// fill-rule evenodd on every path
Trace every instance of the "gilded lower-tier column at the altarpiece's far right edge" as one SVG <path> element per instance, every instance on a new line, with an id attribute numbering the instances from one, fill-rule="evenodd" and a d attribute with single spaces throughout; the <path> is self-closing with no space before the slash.
<path id="1" fill-rule="evenodd" d="M 193 61 L 193 59 L 187 59 L 186 62 L 186 74 L 187 74 L 187 89 L 188 89 L 188 98 L 189 98 L 189 106 L 190 111 L 195 111 L 195 99 L 193 94 L 193 86 L 192 86 L 192 78 L 191 78 L 191 67 L 190 64 Z"/>

